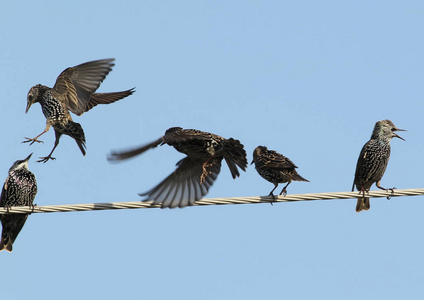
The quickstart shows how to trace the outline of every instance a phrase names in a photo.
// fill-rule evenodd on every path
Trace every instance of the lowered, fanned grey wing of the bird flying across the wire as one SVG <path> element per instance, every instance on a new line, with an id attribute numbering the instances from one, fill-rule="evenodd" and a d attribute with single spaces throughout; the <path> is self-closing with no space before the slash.
<path id="1" fill-rule="evenodd" d="M 147 196 L 143 201 L 153 200 L 154 204 L 161 204 L 162 208 L 193 205 L 208 193 L 221 170 L 221 161 L 222 159 L 210 161 L 211 165 L 207 167 L 209 174 L 201 183 L 203 163 L 186 157 L 177 163 L 178 168 L 171 175 L 140 196 Z"/>

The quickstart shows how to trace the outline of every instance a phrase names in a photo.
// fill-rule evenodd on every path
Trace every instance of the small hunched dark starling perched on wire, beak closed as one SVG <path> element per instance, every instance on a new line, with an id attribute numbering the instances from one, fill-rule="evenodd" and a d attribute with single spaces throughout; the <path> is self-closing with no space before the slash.
<path id="1" fill-rule="evenodd" d="M 292 181 L 309 182 L 296 172 L 297 166 L 290 159 L 274 150 L 268 150 L 267 147 L 256 147 L 253 151 L 253 163 L 255 163 L 259 175 L 274 184 L 274 188 L 269 193 L 269 196 L 272 196 L 273 199 L 275 199 L 273 192 L 279 183 L 287 182 L 280 193 L 280 195 L 285 196 L 287 195 L 287 187 Z"/>

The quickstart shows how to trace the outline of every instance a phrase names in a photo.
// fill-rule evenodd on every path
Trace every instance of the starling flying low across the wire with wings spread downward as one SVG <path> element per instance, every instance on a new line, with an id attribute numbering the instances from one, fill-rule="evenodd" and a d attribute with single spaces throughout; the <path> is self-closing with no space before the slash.
<path id="1" fill-rule="evenodd" d="M 225 159 L 235 179 L 240 176 L 237 166 L 247 167 L 246 151 L 240 141 L 195 129 L 169 128 L 160 139 L 124 152 L 112 152 L 110 161 L 121 161 L 145 152 L 158 145 L 168 144 L 187 155 L 177 163 L 177 169 L 161 183 L 140 196 L 143 201 L 154 200 L 162 208 L 193 205 L 205 196 L 221 170 Z"/>

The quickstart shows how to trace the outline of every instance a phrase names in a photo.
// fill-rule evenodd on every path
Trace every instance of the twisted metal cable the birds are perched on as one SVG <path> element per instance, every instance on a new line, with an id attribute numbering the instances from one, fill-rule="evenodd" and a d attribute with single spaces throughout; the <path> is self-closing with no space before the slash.
<path id="1" fill-rule="evenodd" d="M 404 189 L 392 191 L 370 191 L 366 194 L 369 198 L 382 197 L 402 197 L 402 196 L 420 196 L 424 195 L 422 189 Z M 226 204 L 258 204 L 258 203 L 276 203 L 290 201 L 311 201 L 311 200 L 335 200 L 335 199 L 355 199 L 360 194 L 358 192 L 332 192 L 332 193 L 312 193 L 312 194 L 293 194 L 286 196 L 276 196 L 272 201 L 270 196 L 254 197 L 227 197 L 227 198 L 204 198 L 197 201 L 194 206 L 201 205 L 226 205 Z M 89 203 L 89 204 L 67 204 L 67 205 L 44 205 L 44 206 L 13 206 L 9 208 L 0 207 L 0 214 L 10 213 L 52 213 L 52 212 L 71 212 L 71 211 L 92 211 L 92 210 L 113 210 L 113 209 L 135 209 L 135 208 L 159 208 L 160 205 L 152 204 L 152 201 L 132 201 L 132 202 L 108 202 L 108 203 Z"/>

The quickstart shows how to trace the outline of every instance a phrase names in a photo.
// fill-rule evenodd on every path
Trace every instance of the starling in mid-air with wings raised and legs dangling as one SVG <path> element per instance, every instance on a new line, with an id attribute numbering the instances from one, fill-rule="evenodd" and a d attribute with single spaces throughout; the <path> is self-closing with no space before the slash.
<path id="1" fill-rule="evenodd" d="M 25 137 L 23 143 L 42 142 L 38 138 L 49 131 L 53 126 L 55 143 L 52 151 L 45 157 L 40 157 L 37 162 L 54 160 L 52 154 L 59 144 L 62 134 L 72 137 L 81 153 L 86 154 L 85 134 L 79 123 L 72 120 L 71 114 L 81 116 L 97 104 L 109 104 L 121 100 L 134 93 L 134 88 L 114 93 L 94 93 L 115 65 L 114 58 L 86 62 L 75 67 L 65 69 L 56 79 L 53 88 L 37 84 L 28 92 L 25 113 L 28 113 L 33 103 L 39 102 L 44 116 L 46 128 L 35 138 Z"/>

